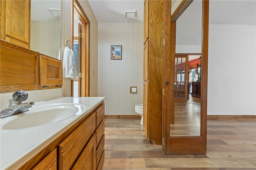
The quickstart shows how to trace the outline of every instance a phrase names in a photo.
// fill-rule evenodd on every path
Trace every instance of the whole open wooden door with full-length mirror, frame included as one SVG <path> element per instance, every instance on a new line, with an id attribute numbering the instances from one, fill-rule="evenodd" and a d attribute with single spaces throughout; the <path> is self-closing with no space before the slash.
<path id="1" fill-rule="evenodd" d="M 176 2 L 165 3 L 163 151 L 205 154 L 209 1 L 182 0 L 169 13 Z"/>

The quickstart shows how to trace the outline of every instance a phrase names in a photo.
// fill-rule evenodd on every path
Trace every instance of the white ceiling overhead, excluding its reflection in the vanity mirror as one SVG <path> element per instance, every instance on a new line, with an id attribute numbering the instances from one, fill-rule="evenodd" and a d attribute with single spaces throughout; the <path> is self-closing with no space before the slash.
<path id="1" fill-rule="evenodd" d="M 144 0 L 88 1 L 99 23 L 143 22 Z M 210 0 L 209 8 L 210 24 L 256 24 L 255 0 Z M 126 19 L 124 13 L 125 10 L 136 10 L 138 12 L 137 18 Z M 198 9 L 195 8 L 193 11 L 197 10 Z"/>

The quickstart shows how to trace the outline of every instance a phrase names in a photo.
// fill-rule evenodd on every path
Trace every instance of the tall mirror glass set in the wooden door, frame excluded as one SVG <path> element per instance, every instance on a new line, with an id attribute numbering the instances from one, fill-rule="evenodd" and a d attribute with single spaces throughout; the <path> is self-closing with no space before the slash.
<path id="1" fill-rule="evenodd" d="M 200 136 L 201 98 L 197 65 L 202 51 L 202 1 L 193 1 L 176 20 L 174 123 L 170 136 Z"/>

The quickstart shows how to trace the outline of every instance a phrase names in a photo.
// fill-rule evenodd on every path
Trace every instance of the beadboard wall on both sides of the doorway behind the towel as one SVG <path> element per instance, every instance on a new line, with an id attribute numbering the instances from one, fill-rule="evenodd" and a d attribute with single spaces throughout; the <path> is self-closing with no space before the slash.
<path id="1" fill-rule="evenodd" d="M 82 6 L 86 16 L 90 20 L 90 96 L 98 96 L 97 84 L 98 84 L 98 21 L 96 20 L 90 4 L 87 0 L 78 0 L 79 4 Z M 62 57 L 65 48 L 65 37 L 69 38 L 71 41 L 72 37 L 72 1 L 62 0 L 61 3 L 61 50 Z M 95 74 L 93 74 L 95 70 Z M 63 96 L 71 96 L 71 79 L 63 78 L 62 85 Z"/>

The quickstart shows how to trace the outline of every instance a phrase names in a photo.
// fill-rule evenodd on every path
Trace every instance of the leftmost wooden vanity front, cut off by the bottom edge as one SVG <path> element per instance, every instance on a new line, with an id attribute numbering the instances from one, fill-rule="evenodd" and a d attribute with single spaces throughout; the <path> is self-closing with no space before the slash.
<path id="1" fill-rule="evenodd" d="M 43 160 L 41 160 L 32 170 L 57 170 L 57 149 L 55 148 Z"/>

